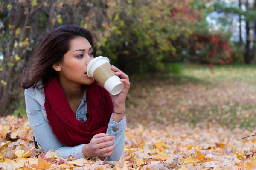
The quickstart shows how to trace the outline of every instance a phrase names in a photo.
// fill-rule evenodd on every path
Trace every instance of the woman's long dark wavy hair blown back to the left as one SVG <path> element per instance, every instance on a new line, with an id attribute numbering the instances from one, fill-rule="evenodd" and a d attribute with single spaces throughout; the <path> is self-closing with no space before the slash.
<path id="1" fill-rule="evenodd" d="M 24 69 L 21 87 L 35 88 L 38 87 L 38 81 L 42 80 L 40 88 L 44 88 L 57 75 L 52 65 L 63 61 L 64 54 L 70 49 L 70 41 L 76 37 L 86 38 L 93 46 L 93 35 L 87 29 L 67 25 L 50 31 L 35 49 L 29 67 Z"/>

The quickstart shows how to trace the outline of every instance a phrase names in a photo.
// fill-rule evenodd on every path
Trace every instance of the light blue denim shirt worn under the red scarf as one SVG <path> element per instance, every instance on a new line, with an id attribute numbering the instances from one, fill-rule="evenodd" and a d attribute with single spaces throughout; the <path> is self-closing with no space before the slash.
<path id="1" fill-rule="evenodd" d="M 57 140 L 56 136 L 52 133 L 52 128 L 49 125 L 46 111 L 44 108 L 45 96 L 44 89 L 29 88 L 25 92 L 26 112 L 29 119 L 29 124 L 35 136 L 35 141 L 39 146 L 47 152 L 51 149 L 58 150 L 58 155 L 67 158 L 68 156 L 76 156 L 78 158 L 85 158 L 82 153 L 84 144 L 75 147 L 69 147 L 62 144 Z M 86 91 L 84 92 L 83 99 L 76 111 L 76 119 L 84 122 L 86 121 L 87 105 L 86 105 Z M 107 134 L 115 136 L 113 154 L 107 158 L 108 161 L 118 161 L 124 151 L 125 144 L 125 128 L 126 117 L 119 122 L 113 120 L 113 113 L 110 118 Z"/>

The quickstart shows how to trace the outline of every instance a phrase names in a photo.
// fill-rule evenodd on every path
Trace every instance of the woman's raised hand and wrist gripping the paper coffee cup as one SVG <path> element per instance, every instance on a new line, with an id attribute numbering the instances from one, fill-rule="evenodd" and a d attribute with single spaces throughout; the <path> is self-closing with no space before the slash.
<path id="1" fill-rule="evenodd" d="M 122 111 L 124 111 L 124 108 L 125 108 L 125 100 L 126 100 L 126 96 L 128 94 L 131 83 L 129 82 L 128 75 L 126 75 L 124 72 L 119 70 L 117 67 L 112 65 L 111 69 L 116 72 L 116 76 L 119 76 L 120 81 L 125 84 L 123 90 L 119 94 L 117 94 L 115 96 L 111 95 L 112 101 L 114 103 L 114 108 L 116 108 L 116 109 L 120 110 L 120 112 L 122 112 Z M 117 110 L 115 110 L 115 111 L 117 111 Z M 119 112 L 119 111 L 117 111 L 117 112 Z"/>

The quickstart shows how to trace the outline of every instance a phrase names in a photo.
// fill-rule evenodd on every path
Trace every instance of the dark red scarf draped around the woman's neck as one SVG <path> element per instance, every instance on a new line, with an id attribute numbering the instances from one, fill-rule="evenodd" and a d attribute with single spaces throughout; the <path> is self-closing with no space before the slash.
<path id="1" fill-rule="evenodd" d="M 106 133 L 112 114 L 113 102 L 110 94 L 98 85 L 86 85 L 87 120 L 76 119 L 58 77 L 54 77 L 44 88 L 47 118 L 57 139 L 66 146 L 88 144 L 92 137 Z"/>

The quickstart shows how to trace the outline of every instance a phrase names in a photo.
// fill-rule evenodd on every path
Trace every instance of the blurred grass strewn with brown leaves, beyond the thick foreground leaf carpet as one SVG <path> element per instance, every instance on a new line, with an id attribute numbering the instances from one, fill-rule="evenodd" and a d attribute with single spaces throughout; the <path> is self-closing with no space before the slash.
<path id="1" fill-rule="evenodd" d="M 132 81 L 130 125 L 208 122 L 220 127 L 253 127 L 256 122 L 256 65 L 184 65 L 183 73 L 146 75 Z M 143 119 L 142 119 L 143 118 Z M 136 123 L 135 123 L 136 122 Z"/>

